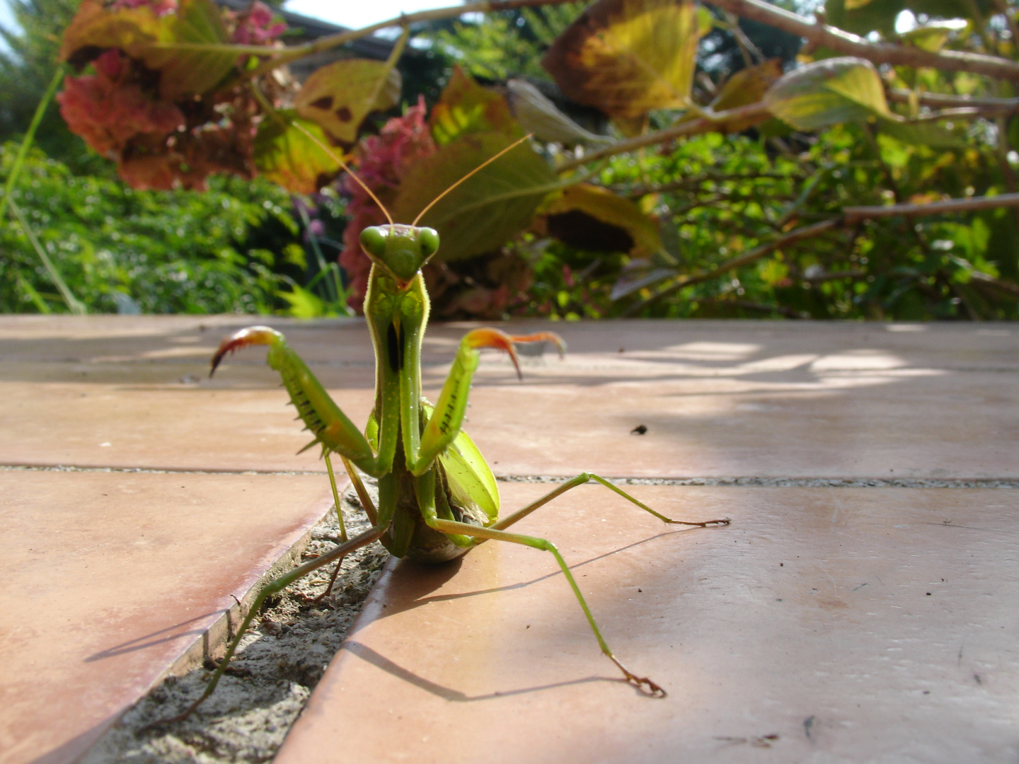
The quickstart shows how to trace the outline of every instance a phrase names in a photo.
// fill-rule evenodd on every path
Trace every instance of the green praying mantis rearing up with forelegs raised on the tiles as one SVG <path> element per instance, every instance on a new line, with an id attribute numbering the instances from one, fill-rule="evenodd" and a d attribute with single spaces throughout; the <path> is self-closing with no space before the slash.
<path id="1" fill-rule="evenodd" d="M 473 172 L 525 140 L 508 146 Z M 447 188 L 442 196 L 469 176 Z M 354 177 L 361 182 L 356 175 Z M 362 186 L 371 194 L 364 183 Z M 479 350 L 488 347 L 505 351 L 522 378 L 516 343 L 551 342 L 558 348 L 560 357 L 566 345 L 552 332 L 514 336 L 498 329 L 474 329 L 460 343 L 435 404 L 422 396 L 421 344 L 428 323 L 429 299 L 421 268 L 438 251 L 439 236 L 435 230 L 418 227 L 417 223 L 438 199 L 441 196 L 426 207 L 411 225 L 393 223 L 384 206 L 375 199 L 389 218 L 389 223 L 366 228 L 361 234 L 363 249 L 372 259 L 364 311 L 376 363 L 375 406 L 363 434 L 333 402 L 279 332 L 265 326 L 242 329 L 224 339 L 213 357 L 210 376 L 226 353 L 248 345 L 268 345 L 269 366 L 279 372 L 290 402 L 314 435 L 306 449 L 315 445 L 322 448 L 340 528 L 343 528 L 343 519 L 330 460 L 333 453 L 339 454 L 342 459 L 372 527 L 351 539 L 346 539 L 345 531 L 341 530 L 341 543 L 329 552 L 267 584 L 256 597 L 203 695 L 175 719 L 187 716 L 212 694 L 246 630 L 268 597 L 331 562 L 336 562 L 338 572 L 344 555 L 376 540 L 381 541 L 396 557 L 433 563 L 454 559 L 489 540 L 523 544 L 550 553 L 573 589 L 601 652 L 619 667 L 627 681 L 645 694 L 664 697 L 665 691 L 660 686 L 647 676 L 634 673 L 612 654 L 555 545 L 546 539 L 511 533 L 506 529 L 555 497 L 589 481 L 600 483 L 665 523 L 704 528 L 728 525 L 730 521 L 689 522 L 666 517 L 591 473 L 578 475 L 537 501 L 499 519 L 495 478 L 470 436 L 461 429 L 471 380 L 478 367 Z M 368 495 L 358 470 L 378 480 L 377 506 Z M 335 578 L 336 572 L 329 582 L 326 594 Z"/>

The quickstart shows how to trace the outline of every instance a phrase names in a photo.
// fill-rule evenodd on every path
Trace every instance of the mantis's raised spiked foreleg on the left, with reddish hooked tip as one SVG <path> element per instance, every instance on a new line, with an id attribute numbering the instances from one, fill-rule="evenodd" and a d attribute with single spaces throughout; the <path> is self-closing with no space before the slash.
<path id="1" fill-rule="evenodd" d="M 290 402 L 298 410 L 305 426 L 315 436 L 306 448 L 316 443 L 321 444 L 324 449 L 335 451 L 373 477 L 381 477 L 390 471 L 396 448 L 395 423 L 382 428 L 382 432 L 388 437 L 384 437 L 379 443 L 376 455 L 365 436 L 333 402 L 305 362 L 286 344 L 286 338 L 275 329 L 250 326 L 224 339 L 212 359 L 209 376 L 216 371 L 227 352 L 248 345 L 269 346 L 266 361 L 279 372 L 283 386 L 290 395 Z"/>

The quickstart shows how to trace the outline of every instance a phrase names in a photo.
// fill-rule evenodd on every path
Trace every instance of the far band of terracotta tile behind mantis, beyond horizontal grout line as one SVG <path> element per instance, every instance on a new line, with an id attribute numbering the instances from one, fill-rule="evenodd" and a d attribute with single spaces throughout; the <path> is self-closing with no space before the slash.
<path id="1" fill-rule="evenodd" d="M 307 436 L 263 352 L 233 357 L 206 379 L 219 336 L 258 319 L 0 319 L 0 420 L 10 433 L 0 461 L 322 470 L 314 452 L 294 455 Z M 212 328 L 202 332 L 203 321 Z M 363 324 L 273 323 L 365 422 L 374 380 Z M 430 330 L 424 378 L 433 397 L 469 326 Z M 497 473 L 998 478 L 1019 470 L 1006 445 L 1019 425 L 1019 330 L 1006 325 L 509 328 L 549 327 L 571 352 L 562 363 L 525 359 L 523 384 L 494 353 L 482 362 L 468 430 Z M 631 436 L 638 425 L 647 434 Z"/>

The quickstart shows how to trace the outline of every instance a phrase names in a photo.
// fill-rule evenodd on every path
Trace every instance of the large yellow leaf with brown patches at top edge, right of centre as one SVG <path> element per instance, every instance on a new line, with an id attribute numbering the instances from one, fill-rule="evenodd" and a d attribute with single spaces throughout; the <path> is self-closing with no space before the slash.
<path id="1" fill-rule="evenodd" d="M 632 118 L 684 106 L 701 32 L 690 1 L 598 0 L 541 63 L 577 103 Z"/>

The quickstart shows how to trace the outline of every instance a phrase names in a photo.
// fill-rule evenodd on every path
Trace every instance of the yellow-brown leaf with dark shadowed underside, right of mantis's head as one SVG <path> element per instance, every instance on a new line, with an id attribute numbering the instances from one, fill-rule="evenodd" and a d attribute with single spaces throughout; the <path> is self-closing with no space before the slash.
<path id="1" fill-rule="evenodd" d="M 566 188 L 541 221 L 546 233 L 581 250 L 646 258 L 661 249 L 657 226 L 637 205 L 590 183 Z"/>

